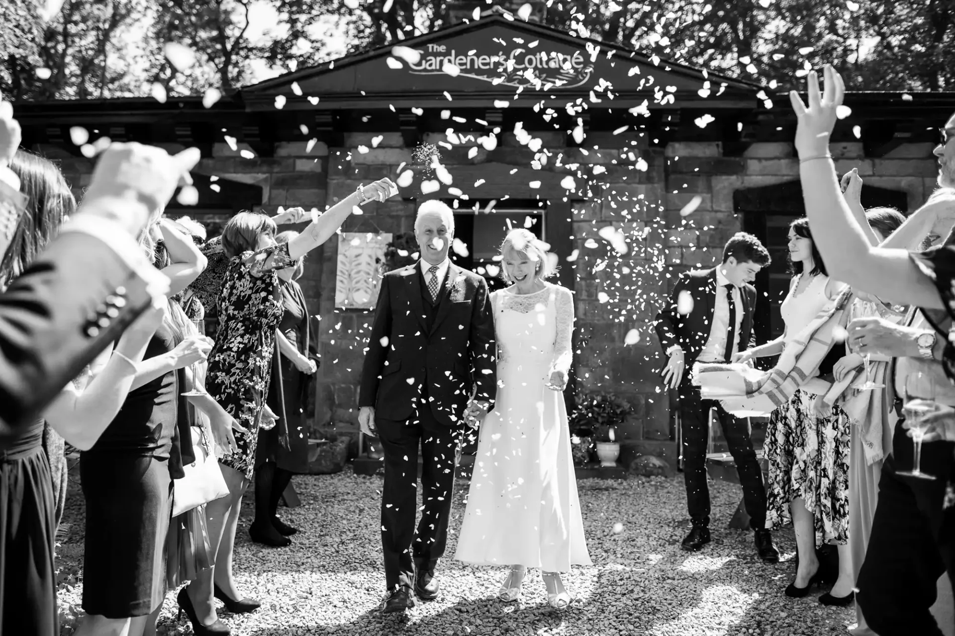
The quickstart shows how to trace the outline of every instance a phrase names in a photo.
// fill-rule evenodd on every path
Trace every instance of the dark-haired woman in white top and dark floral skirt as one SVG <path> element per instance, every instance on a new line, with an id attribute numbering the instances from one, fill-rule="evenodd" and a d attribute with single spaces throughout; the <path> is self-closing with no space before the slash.
<path id="1" fill-rule="evenodd" d="M 735 361 L 782 353 L 844 289 L 842 283 L 829 277 L 813 236 L 808 219 L 799 218 L 790 224 L 793 279 L 781 306 L 785 332 L 778 339 L 739 354 Z M 838 349 L 834 351 L 838 359 Z M 819 369 L 819 375 L 827 371 L 832 371 L 832 362 L 828 370 Z M 830 387 L 829 382 L 810 379 L 770 417 L 763 445 L 769 463 L 766 524 L 778 529 L 792 521 L 796 529 L 799 561 L 796 579 L 786 588 L 787 596 L 800 598 L 809 593 L 821 577 L 817 544 L 833 542 L 838 544 L 839 577 L 820 602 L 849 605 L 855 585 L 848 548 L 849 428 L 838 405 L 829 413 L 818 407 Z"/>

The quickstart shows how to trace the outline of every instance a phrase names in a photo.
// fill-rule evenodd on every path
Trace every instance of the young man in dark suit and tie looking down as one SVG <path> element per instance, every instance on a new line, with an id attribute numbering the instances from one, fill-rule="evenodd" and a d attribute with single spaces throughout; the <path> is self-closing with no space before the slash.
<path id="1" fill-rule="evenodd" d="M 710 409 L 719 414 L 723 434 L 736 462 L 750 515 L 759 558 L 779 561 L 766 525 L 766 490 L 756 461 L 748 422 L 734 418 L 716 400 L 702 400 L 690 383 L 693 363 L 730 362 L 733 354 L 755 345 L 753 308 L 756 289 L 750 284 L 770 255 L 755 236 L 732 236 L 723 249 L 723 262 L 711 270 L 684 272 L 669 302 L 656 317 L 656 332 L 668 356 L 664 381 L 679 390 L 683 433 L 683 470 L 692 528 L 683 549 L 695 552 L 710 543 L 710 489 L 707 484 L 707 437 Z"/>

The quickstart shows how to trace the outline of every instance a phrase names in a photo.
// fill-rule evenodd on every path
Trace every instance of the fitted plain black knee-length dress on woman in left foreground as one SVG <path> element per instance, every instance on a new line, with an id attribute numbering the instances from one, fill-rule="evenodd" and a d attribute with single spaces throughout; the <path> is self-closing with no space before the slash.
<path id="1" fill-rule="evenodd" d="M 163 325 L 144 359 L 175 347 Z M 130 391 L 117 417 L 80 458 L 86 500 L 83 609 L 106 618 L 151 614 L 165 596 L 173 479 L 191 462 L 181 369 Z M 182 428 L 184 426 L 184 429 Z M 180 454 L 180 440 L 184 440 Z"/>

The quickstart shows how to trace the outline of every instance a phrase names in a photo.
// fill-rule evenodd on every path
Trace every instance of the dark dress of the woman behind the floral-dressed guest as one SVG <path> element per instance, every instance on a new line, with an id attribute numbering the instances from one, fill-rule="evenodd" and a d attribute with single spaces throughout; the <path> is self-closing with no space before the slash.
<path id="1" fill-rule="evenodd" d="M 308 306 L 302 288 L 294 280 L 281 280 L 284 312 L 279 322 L 279 331 L 303 356 L 309 356 Z M 312 357 L 313 358 L 313 357 Z M 273 461 L 290 473 L 308 473 L 308 421 L 305 407 L 308 402 L 308 375 L 287 359 L 275 347 L 272 362 L 272 381 L 268 387 L 266 403 L 279 417 L 271 429 L 259 431 L 259 446 L 256 450 L 256 465 Z M 280 433 L 287 431 L 288 448 L 279 442 Z"/>

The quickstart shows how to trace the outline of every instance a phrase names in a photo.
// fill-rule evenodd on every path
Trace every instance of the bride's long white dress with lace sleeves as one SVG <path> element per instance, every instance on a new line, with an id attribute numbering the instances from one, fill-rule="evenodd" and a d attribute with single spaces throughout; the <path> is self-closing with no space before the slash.
<path id="1" fill-rule="evenodd" d="M 574 299 L 558 285 L 536 294 L 491 295 L 498 340 L 498 395 L 484 419 L 455 558 L 567 572 L 589 565 L 560 392 L 570 368 Z"/>

